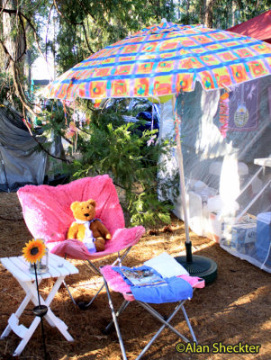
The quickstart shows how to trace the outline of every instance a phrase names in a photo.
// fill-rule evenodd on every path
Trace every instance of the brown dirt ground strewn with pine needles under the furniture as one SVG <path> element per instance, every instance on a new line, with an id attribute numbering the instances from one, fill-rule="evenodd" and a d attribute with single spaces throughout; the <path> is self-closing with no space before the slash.
<path id="1" fill-rule="evenodd" d="M 0 257 L 22 255 L 24 243 L 32 238 L 26 228 L 21 206 L 16 193 L 0 193 Z M 9 219 L 9 220 L 4 220 Z M 13 220 L 11 220 L 13 219 Z M 169 330 L 164 330 L 144 359 L 189 359 L 189 360 L 270 360 L 271 359 L 271 275 L 241 261 L 225 252 L 218 244 L 207 238 L 190 233 L 193 252 L 197 255 L 212 258 L 218 265 L 217 279 L 204 289 L 194 292 L 191 302 L 186 302 L 185 309 L 194 328 L 195 336 L 200 345 L 212 347 L 214 342 L 236 345 L 239 342 L 249 345 L 260 345 L 259 354 L 180 354 L 176 352 L 178 339 Z M 127 266 L 139 266 L 150 257 L 158 256 L 167 251 L 176 257 L 184 252 L 185 229 L 182 221 L 172 217 L 169 227 L 148 229 L 146 235 L 133 247 L 125 262 Z M 110 263 L 107 257 L 100 266 Z M 79 269 L 78 275 L 71 275 L 66 280 L 71 293 L 77 300 L 90 299 L 100 284 L 101 279 L 90 272 L 80 261 L 72 261 Z M 0 334 L 5 329 L 11 313 L 16 311 L 22 302 L 24 292 L 13 276 L 0 266 Z M 53 285 L 52 279 L 41 283 L 41 295 L 46 297 Z M 113 303 L 120 304 L 122 296 L 113 293 Z M 156 309 L 167 316 L 173 304 L 157 305 Z M 101 329 L 111 320 L 111 313 L 105 291 L 98 295 L 92 307 L 80 311 L 69 299 L 65 288 L 51 303 L 51 310 L 64 320 L 68 331 L 75 341 L 68 342 L 46 322 L 44 324 L 48 359 L 53 360 L 120 360 L 122 358 L 116 334 L 103 335 Z M 32 322 L 32 304 L 21 317 L 22 323 L 29 326 Z M 173 320 L 173 325 L 189 338 L 189 331 L 181 311 Z M 149 339 L 159 328 L 159 324 L 149 313 L 145 313 L 139 305 L 131 302 L 123 312 L 120 320 L 123 341 L 129 359 L 140 353 Z M 20 339 L 12 332 L 8 338 L 0 340 L 0 359 L 12 357 Z M 41 328 L 33 334 L 24 348 L 23 359 L 44 359 L 41 341 Z"/>

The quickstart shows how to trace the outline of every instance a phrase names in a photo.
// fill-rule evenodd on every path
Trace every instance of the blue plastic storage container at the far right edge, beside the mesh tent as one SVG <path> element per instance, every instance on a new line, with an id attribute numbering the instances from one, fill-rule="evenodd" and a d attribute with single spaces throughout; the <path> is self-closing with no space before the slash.
<path id="1" fill-rule="evenodd" d="M 260 262 L 271 266 L 271 212 L 257 214 L 257 241 L 255 244 L 257 258 Z"/>

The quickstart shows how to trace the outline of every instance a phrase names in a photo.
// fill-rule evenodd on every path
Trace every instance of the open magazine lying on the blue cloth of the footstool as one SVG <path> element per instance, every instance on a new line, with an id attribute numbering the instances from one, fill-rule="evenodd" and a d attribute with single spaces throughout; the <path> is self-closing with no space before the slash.
<path id="1" fill-rule="evenodd" d="M 124 275 L 131 284 L 136 286 L 150 286 L 167 284 L 160 276 L 155 274 L 152 269 L 127 269 L 121 268 L 122 275 Z"/>

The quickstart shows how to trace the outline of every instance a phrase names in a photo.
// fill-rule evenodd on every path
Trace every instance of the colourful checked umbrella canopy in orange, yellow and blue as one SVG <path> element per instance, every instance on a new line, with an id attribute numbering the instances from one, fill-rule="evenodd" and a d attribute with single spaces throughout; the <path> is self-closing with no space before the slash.
<path id="1" fill-rule="evenodd" d="M 148 97 L 271 74 L 271 46 L 203 25 L 160 23 L 96 52 L 52 82 L 49 98 Z"/>

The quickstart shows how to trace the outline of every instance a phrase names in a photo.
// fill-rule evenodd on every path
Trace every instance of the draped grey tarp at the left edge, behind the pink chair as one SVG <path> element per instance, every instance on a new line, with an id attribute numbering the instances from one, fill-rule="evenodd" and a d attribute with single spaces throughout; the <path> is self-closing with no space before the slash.
<path id="1" fill-rule="evenodd" d="M 24 184 L 43 184 L 47 157 L 37 151 L 18 112 L 0 106 L 0 191 L 14 192 Z"/>

